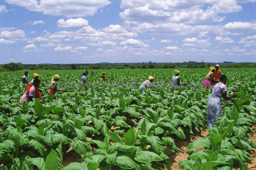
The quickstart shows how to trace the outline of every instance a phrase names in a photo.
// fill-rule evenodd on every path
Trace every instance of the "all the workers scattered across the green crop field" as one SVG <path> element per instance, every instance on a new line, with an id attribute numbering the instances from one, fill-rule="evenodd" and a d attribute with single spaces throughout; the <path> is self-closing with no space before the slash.
<path id="1" fill-rule="evenodd" d="M 208 72 L 206 79 L 203 82 L 203 85 L 206 89 L 209 89 L 210 86 L 214 86 L 212 89 L 212 93 L 210 99 L 207 104 L 207 128 L 212 127 L 216 122 L 217 118 L 222 114 L 222 98 L 225 100 L 231 100 L 232 98 L 236 98 L 236 94 L 231 93 L 230 96 L 227 96 L 227 86 L 225 85 L 227 82 L 227 77 L 222 75 L 221 70 L 219 69 L 219 65 L 217 64 L 215 67 L 210 67 L 210 71 Z M 94 70 L 91 72 L 92 76 L 94 75 Z M 181 85 L 187 85 L 187 83 L 180 83 L 179 78 L 180 71 L 175 70 L 174 76 L 172 78 L 172 86 L 174 88 L 178 88 Z M 82 73 L 81 84 L 86 84 L 86 76 L 88 75 L 88 71 Z M 48 90 L 49 95 L 54 95 L 57 92 L 65 92 L 65 90 L 57 89 L 57 81 L 59 80 L 59 75 L 54 75 L 51 79 L 50 89 Z M 105 78 L 105 72 L 103 72 L 100 81 L 106 81 L 108 79 Z M 155 85 L 152 85 L 154 78 L 152 76 L 148 77 L 148 80 L 144 81 L 140 86 L 139 90 L 145 90 L 146 88 L 155 88 Z M 25 89 L 25 92 L 19 100 L 19 104 L 23 104 L 23 102 L 33 101 L 33 98 L 41 98 L 40 92 L 41 89 L 38 89 L 40 80 L 38 79 L 38 75 L 36 73 L 33 74 L 33 80 L 28 83 L 28 71 L 25 71 L 25 75 L 22 77 L 22 82 L 20 84 L 28 84 Z"/>

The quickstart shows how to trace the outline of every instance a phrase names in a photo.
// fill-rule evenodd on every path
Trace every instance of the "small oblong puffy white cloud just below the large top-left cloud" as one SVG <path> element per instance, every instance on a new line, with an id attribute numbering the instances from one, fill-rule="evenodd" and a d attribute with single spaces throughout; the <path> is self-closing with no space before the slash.
<path id="1" fill-rule="evenodd" d="M 88 26 L 88 21 L 83 18 L 71 18 L 66 21 L 64 19 L 59 19 L 57 24 L 59 28 L 79 28 Z"/>

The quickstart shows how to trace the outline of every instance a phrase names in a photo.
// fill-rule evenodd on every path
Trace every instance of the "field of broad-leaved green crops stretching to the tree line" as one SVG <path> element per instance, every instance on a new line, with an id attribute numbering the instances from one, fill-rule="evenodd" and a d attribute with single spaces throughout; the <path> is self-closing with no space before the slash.
<path id="1" fill-rule="evenodd" d="M 207 122 L 211 89 L 202 86 L 208 69 L 179 69 L 181 82 L 174 90 L 174 69 L 95 70 L 80 85 L 84 70 L 29 71 L 41 80 L 45 104 L 18 101 L 25 87 L 23 71 L 0 74 L 0 169 L 162 169 L 178 153 L 175 139 L 199 132 Z M 247 137 L 256 122 L 256 68 L 223 68 L 228 95 L 223 114 L 209 135 L 191 142 L 182 169 L 247 169 L 256 144 Z M 108 82 L 99 82 L 105 71 Z M 51 77 L 67 92 L 48 96 Z M 148 76 L 155 89 L 139 91 Z M 42 101 L 41 101 L 42 102 Z M 62 167 L 68 154 L 84 159 Z"/>

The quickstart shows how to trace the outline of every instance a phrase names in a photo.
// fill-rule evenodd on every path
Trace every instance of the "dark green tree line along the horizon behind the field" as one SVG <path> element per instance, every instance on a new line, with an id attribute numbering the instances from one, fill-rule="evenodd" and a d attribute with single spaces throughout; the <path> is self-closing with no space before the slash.
<path id="1" fill-rule="evenodd" d="M 220 64 L 222 68 L 225 67 L 256 67 L 256 63 L 204 63 L 188 61 L 182 63 L 96 63 L 96 64 L 22 64 L 22 63 L 8 63 L 0 65 L 0 72 L 2 71 L 17 71 L 17 70 L 68 70 L 68 69 L 140 69 L 140 68 L 209 68 Z"/>

